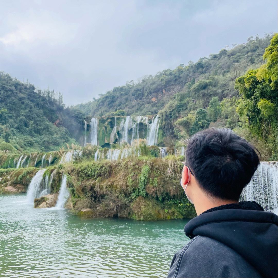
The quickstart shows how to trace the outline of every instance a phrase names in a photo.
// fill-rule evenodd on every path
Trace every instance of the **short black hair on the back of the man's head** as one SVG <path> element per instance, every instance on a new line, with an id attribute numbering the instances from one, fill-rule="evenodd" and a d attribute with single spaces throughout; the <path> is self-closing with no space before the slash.
<path id="1" fill-rule="evenodd" d="M 210 196 L 238 201 L 260 163 L 256 151 L 228 128 L 209 128 L 190 139 L 186 163 Z"/>

